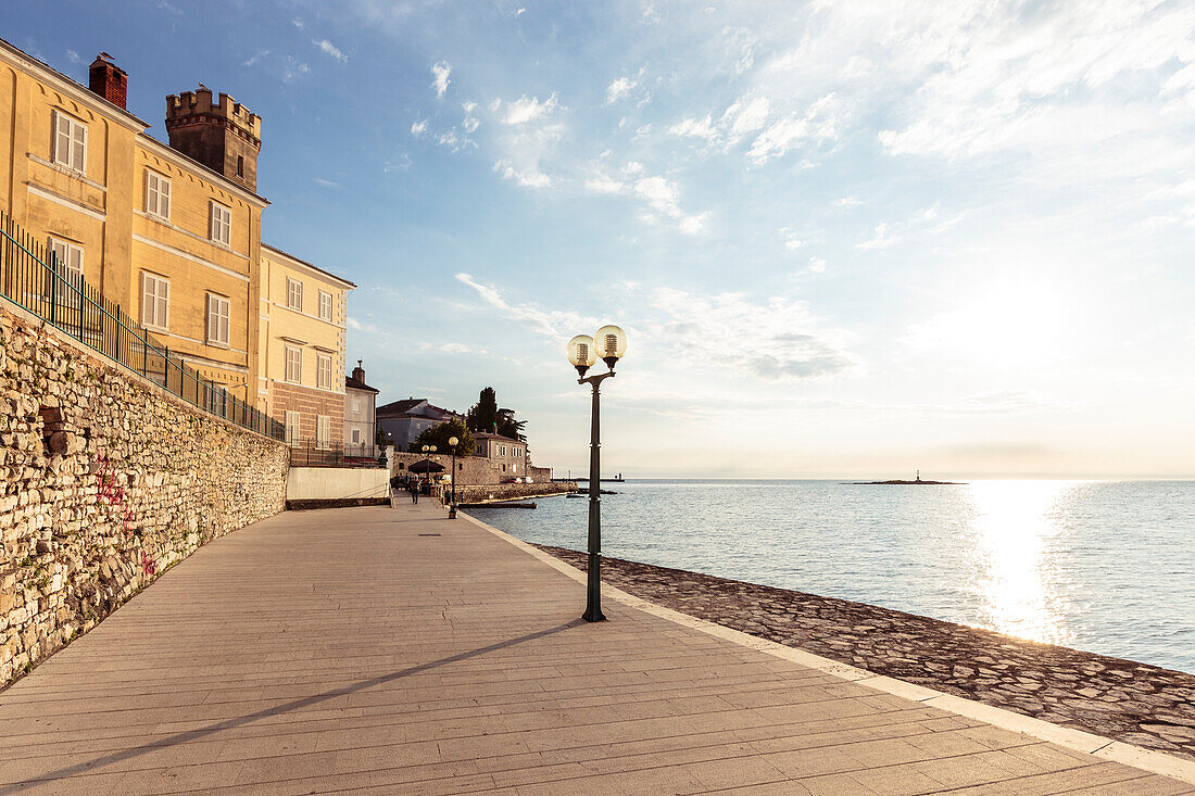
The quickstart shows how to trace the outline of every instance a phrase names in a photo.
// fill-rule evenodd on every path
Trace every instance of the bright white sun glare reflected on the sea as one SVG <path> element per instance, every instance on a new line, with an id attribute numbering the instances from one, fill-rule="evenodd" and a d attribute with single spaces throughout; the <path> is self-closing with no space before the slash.
<path id="1" fill-rule="evenodd" d="M 1070 482 L 1000 480 L 970 486 L 980 568 L 983 626 L 1050 644 L 1067 644 L 1066 601 L 1047 563 L 1047 545 L 1058 534 L 1050 513 Z"/>

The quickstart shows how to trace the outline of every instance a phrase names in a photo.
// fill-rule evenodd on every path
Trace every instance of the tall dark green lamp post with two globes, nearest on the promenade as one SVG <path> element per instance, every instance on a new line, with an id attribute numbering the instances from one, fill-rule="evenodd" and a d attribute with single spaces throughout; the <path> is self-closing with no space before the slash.
<path id="1" fill-rule="evenodd" d="M 614 376 L 614 366 L 626 353 L 626 332 L 618 326 L 602 326 L 593 337 L 577 335 L 569 341 L 566 348 L 569 362 L 577 368 L 577 384 L 593 387 L 593 408 L 589 418 L 589 567 L 586 588 L 586 622 L 602 622 L 601 612 L 601 408 L 599 385 Z M 609 368 L 586 378 L 586 372 L 593 367 L 598 357 Z"/>

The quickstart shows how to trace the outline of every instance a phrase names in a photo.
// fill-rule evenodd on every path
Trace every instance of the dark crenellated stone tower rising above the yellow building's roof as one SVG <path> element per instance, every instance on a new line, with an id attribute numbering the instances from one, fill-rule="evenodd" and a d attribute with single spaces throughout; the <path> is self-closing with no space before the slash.
<path id="1" fill-rule="evenodd" d="M 257 192 L 262 117 L 228 94 L 213 104 L 212 90 L 200 84 L 166 97 L 166 133 L 174 149 Z"/>

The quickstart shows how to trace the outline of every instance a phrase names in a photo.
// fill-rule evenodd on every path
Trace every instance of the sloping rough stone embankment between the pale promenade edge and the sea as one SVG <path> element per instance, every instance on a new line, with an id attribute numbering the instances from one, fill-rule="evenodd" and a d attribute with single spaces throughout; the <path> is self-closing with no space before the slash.
<path id="1" fill-rule="evenodd" d="M 582 552 L 537 545 L 584 570 Z M 874 605 L 618 558 L 602 580 L 700 619 L 1054 724 L 1195 759 L 1195 675 Z"/>

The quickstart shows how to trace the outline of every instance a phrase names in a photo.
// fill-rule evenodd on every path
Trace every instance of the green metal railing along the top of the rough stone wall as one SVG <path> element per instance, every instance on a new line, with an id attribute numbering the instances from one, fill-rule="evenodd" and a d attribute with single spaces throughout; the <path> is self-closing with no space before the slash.
<path id="1" fill-rule="evenodd" d="M 0 213 L 0 294 L 207 412 L 276 440 L 286 436 L 282 423 L 200 376 L 6 213 Z"/>

